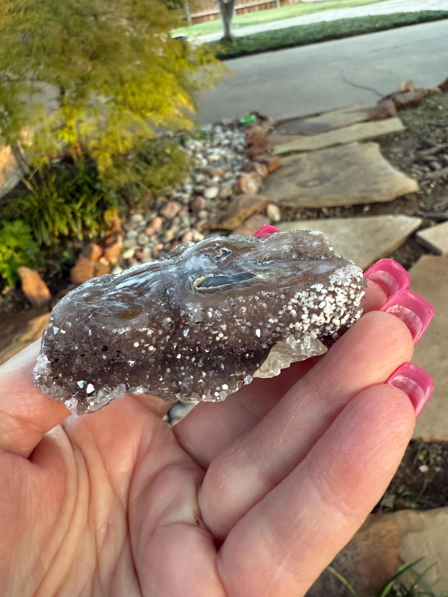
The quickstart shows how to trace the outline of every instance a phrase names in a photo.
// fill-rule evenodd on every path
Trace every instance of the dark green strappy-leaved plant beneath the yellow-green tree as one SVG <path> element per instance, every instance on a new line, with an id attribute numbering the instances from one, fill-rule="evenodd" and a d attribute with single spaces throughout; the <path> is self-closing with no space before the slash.
<path id="1" fill-rule="evenodd" d="M 61 237 L 93 238 L 105 228 L 105 214 L 124 210 L 124 200 L 100 180 L 96 164 L 82 160 L 44 168 L 28 190 L 11 199 L 7 216 L 26 223 L 39 245 L 53 245 Z"/>

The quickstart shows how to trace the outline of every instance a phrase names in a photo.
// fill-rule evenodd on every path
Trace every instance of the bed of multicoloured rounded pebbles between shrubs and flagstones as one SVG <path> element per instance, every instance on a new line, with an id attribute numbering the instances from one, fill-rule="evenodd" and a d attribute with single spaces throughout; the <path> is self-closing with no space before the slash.
<path id="1" fill-rule="evenodd" d="M 185 141 L 185 150 L 191 163 L 188 176 L 159 195 L 151 209 L 124 222 L 123 253 L 113 273 L 160 259 L 181 242 L 208 236 L 208 221 L 230 201 L 232 188 L 249 170 L 246 138 L 239 127 L 204 127 L 201 139 Z"/>

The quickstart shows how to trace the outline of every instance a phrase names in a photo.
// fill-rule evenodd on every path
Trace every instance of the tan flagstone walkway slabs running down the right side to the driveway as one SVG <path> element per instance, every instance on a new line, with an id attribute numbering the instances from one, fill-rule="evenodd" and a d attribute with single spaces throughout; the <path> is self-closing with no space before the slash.
<path id="1" fill-rule="evenodd" d="M 369 122 L 372 106 L 352 106 L 312 118 L 278 125 L 271 136 L 274 153 L 289 153 L 283 167 L 265 182 L 262 192 L 278 205 L 332 207 L 391 201 L 418 190 L 414 179 L 398 172 L 372 141 L 388 127 L 401 130 L 400 119 Z M 362 131 L 367 131 L 365 135 Z M 359 132 L 361 131 L 361 132 Z M 333 143 L 339 141 L 337 146 Z M 330 147 L 327 146 L 327 143 Z M 308 148 L 316 149 L 307 150 Z M 321 230 L 335 253 L 350 257 L 364 270 L 388 256 L 421 227 L 418 217 L 404 215 L 281 221 L 280 230 Z M 416 233 L 416 238 L 437 255 L 425 255 L 410 270 L 412 290 L 436 309 L 434 322 L 415 349 L 413 362 L 434 377 L 435 391 L 419 418 L 415 438 L 448 441 L 448 222 Z M 434 564 L 424 586 L 435 595 L 448 590 L 448 508 L 422 512 L 400 510 L 372 515 L 352 541 L 336 556 L 333 567 L 354 586 L 358 595 L 376 594 L 398 566 L 416 564 L 401 580 L 409 586 L 419 573 Z M 346 597 L 345 587 L 325 571 L 307 597 Z"/>

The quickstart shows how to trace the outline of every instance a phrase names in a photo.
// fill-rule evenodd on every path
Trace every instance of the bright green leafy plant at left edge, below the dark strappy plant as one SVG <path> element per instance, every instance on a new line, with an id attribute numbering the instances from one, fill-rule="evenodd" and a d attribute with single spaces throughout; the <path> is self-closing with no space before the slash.
<path id="1" fill-rule="evenodd" d="M 20 266 L 36 267 L 41 263 L 38 244 L 23 220 L 6 221 L 0 228 L 0 276 L 14 286 L 19 281 Z"/>

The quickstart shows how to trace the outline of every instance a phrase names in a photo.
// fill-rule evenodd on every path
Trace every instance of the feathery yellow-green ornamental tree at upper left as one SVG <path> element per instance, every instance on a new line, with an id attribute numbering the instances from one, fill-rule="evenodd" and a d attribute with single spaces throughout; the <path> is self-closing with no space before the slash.
<path id="1" fill-rule="evenodd" d="M 217 76 L 202 47 L 174 39 L 172 2 L 2 0 L 0 128 L 35 167 L 61 150 L 103 176 L 158 130 L 191 126 L 194 94 Z M 20 136 L 26 129 L 26 136 Z"/>

